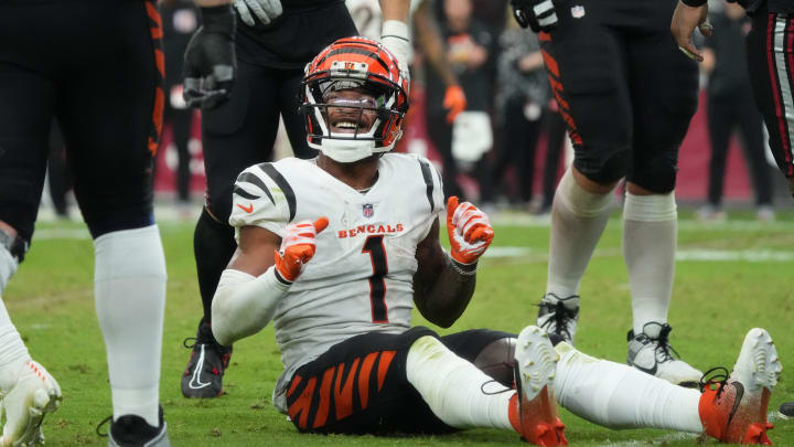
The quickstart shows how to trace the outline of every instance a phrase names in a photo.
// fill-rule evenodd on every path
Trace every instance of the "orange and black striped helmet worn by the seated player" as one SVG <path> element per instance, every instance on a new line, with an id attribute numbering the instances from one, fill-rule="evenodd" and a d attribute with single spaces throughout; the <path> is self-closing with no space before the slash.
<path id="1" fill-rule="evenodd" d="M 380 43 L 366 38 L 335 41 L 307 65 L 301 84 L 309 146 L 341 162 L 391 150 L 403 136 L 409 84 L 408 74 L 400 71 L 397 58 Z M 377 118 L 361 132 L 332 132 L 325 94 L 355 88 L 376 98 L 372 107 L 360 106 L 360 114 L 374 110 Z"/>

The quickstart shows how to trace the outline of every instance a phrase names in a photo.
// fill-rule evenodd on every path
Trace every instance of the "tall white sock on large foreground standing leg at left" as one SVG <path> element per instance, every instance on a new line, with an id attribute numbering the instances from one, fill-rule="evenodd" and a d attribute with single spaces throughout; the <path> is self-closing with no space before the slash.
<path id="1" fill-rule="evenodd" d="M 157 225 L 94 241 L 96 312 L 105 338 L 114 421 L 138 415 L 158 426 L 165 257 Z"/>

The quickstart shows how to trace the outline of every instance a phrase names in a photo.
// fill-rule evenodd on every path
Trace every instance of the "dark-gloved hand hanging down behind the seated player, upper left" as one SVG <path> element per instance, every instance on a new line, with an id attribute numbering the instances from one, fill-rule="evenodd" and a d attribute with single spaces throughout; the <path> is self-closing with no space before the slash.
<path id="1" fill-rule="evenodd" d="M 237 71 L 236 22 L 229 4 L 201 11 L 204 24 L 185 50 L 182 95 L 191 107 L 213 108 L 232 96 Z"/>

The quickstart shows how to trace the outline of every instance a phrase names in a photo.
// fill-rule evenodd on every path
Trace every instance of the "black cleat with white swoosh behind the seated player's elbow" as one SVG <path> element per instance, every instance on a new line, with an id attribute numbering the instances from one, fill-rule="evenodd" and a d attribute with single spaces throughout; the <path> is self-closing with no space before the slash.
<path id="1" fill-rule="evenodd" d="M 187 344 L 194 341 L 193 345 Z M 185 397 L 217 397 L 223 394 L 223 375 L 232 358 L 232 347 L 222 347 L 208 323 L 198 323 L 195 339 L 185 339 L 185 348 L 193 348 L 187 368 L 182 375 L 182 395 Z"/>

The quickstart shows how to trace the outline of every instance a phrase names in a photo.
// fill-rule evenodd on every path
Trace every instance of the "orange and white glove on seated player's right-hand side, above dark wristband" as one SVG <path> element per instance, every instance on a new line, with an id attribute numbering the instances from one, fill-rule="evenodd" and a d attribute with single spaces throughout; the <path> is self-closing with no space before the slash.
<path id="1" fill-rule="evenodd" d="M 494 235 L 487 215 L 469 202 L 458 204 L 455 195 L 447 201 L 447 234 L 452 259 L 466 265 L 476 263 Z"/>

